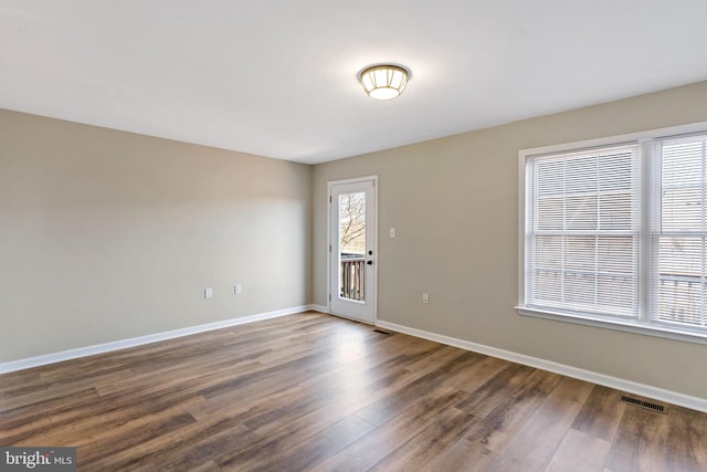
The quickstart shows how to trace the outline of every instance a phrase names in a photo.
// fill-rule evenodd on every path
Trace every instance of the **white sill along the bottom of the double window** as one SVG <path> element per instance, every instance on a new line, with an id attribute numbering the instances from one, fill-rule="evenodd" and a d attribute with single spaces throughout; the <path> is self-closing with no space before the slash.
<path id="1" fill-rule="evenodd" d="M 707 334 L 683 331 L 669 326 L 646 326 L 630 321 L 606 319 L 591 316 L 578 316 L 567 313 L 549 312 L 538 308 L 528 308 L 525 306 L 516 306 L 516 311 L 521 316 L 531 316 L 534 318 L 551 319 L 562 323 L 572 323 L 584 326 L 592 326 L 603 329 L 613 329 L 624 333 L 641 334 L 645 336 L 655 336 L 667 339 L 676 339 L 688 343 L 697 343 L 707 345 Z"/>

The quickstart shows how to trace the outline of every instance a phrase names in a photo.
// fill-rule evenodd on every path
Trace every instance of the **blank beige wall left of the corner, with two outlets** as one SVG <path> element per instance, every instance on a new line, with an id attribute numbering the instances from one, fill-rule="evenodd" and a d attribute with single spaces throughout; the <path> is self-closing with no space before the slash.
<path id="1" fill-rule="evenodd" d="M 0 111 L 0 361 L 308 303 L 310 177 Z"/>

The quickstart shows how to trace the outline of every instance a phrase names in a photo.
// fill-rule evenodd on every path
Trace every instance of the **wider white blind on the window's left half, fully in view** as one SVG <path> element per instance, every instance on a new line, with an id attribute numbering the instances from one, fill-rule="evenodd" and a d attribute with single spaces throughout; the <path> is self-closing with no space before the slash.
<path id="1" fill-rule="evenodd" d="M 639 145 L 531 156 L 525 166 L 526 307 L 636 318 Z"/>

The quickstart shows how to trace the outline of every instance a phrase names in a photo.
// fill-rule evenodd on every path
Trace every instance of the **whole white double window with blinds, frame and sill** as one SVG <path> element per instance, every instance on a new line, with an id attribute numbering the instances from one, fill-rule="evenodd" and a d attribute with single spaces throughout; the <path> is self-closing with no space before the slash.
<path id="1" fill-rule="evenodd" d="M 654 135 L 520 151 L 521 314 L 707 343 L 707 134 Z"/>

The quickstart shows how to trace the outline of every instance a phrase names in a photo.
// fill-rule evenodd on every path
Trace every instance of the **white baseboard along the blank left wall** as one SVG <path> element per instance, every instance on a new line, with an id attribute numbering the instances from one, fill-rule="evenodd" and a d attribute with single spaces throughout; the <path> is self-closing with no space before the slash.
<path id="1" fill-rule="evenodd" d="M 148 334 L 145 336 L 119 339 L 110 343 L 96 344 L 93 346 L 78 347 L 76 349 L 62 350 L 60 353 L 45 354 L 42 356 L 28 357 L 25 359 L 10 360 L 0 364 L 0 374 L 8 374 L 15 370 L 29 369 L 32 367 L 45 366 L 48 364 L 61 363 L 64 360 L 77 359 L 80 357 L 93 356 L 96 354 L 110 353 L 113 350 L 126 349 L 128 347 L 141 346 L 144 344 L 157 343 L 159 340 L 173 339 L 189 336 L 191 334 L 204 333 L 221 329 L 230 326 L 244 325 L 263 319 L 277 318 L 279 316 L 294 315 L 296 313 L 316 310 L 318 305 L 293 306 L 292 308 L 277 310 L 275 312 L 260 313 L 257 315 L 242 316 L 239 318 L 224 319 L 221 322 L 208 323 L 204 325 L 190 326 L 180 329 L 172 329 L 162 333 Z M 318 311 L 318 310 L 317 310 Z"/>

